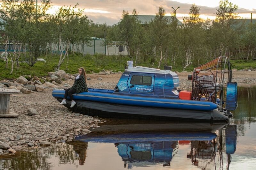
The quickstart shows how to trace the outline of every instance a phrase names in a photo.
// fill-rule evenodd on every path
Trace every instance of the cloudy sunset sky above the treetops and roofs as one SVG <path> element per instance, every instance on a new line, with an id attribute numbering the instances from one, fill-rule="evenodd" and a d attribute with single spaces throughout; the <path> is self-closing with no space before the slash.
<path id="1" fill-rule="evenodd" d="M 256 1 L 253 0 L 229 0 L 238 5 L 239 16 L 249 19 L 256 18 Z M 95 23 L 108 25 L 116 24 L 122 17 L 122 11 L 132 12 L 135 8 L 139 15 L 156 15 L 159 6 L 163 6 L 166 15 L 171 15 L 172 7 L 180 8 L 176 11 L 178 19 L 188 16 L 189 8 L 192 4 L 200 7 L 202 18 L 214 19 L 216 9 L 219 6 L 219 0 L 52 0 L 51 13 L 60 6 L 74 6 L 78 3 L 79 8 L 84 8 L 84 13 Z"/>

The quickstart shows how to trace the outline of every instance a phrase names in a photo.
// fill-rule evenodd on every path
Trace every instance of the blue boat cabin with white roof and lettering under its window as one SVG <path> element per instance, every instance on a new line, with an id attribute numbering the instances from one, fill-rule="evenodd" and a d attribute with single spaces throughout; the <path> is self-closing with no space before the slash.
<path id="1" fill-rule="evenodd" d="M 154 98 L 179 98 L 179 77 L 171 71 L 171 67 L 166 70 L 132 66 L 133 61 L 128 61 L 128 68 L 116 85 L 115 92 L 118 94 L 129 94 Z"/>

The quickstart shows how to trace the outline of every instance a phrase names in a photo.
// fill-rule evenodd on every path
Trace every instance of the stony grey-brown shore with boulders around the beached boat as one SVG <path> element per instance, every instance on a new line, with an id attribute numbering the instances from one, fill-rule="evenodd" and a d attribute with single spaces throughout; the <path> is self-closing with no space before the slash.
<path id="1" fill-rule="evenodd" d="M 90 130 L 106 122 L 102 118 L 72 113 L 52 97 L 54 88 L 63 89 L 72 86 L 74 82 L 76 75 L 61 72 L 49 73 L 47 78 L 25 75 L 12 81 L 0 81 L 0 88 L 21 91 L 11 95 L 10 106 L 10 111 L 18 113 L 19 117 L 0 118 L 0 156 L 71 141 L 75 136 L 90 133 Z M 191 80 L 187 77 L 191 73 L 177 74 L 180 77 L 181 89 L 189 89 Z M 120 76 L 121 73 L 107 71 L 102 74 L 89 74 L 87 85 L 89 88 L 113 89 Z M 238 85 L 256 85 L 256 71 L 235 71 L 233 81 Z"/>

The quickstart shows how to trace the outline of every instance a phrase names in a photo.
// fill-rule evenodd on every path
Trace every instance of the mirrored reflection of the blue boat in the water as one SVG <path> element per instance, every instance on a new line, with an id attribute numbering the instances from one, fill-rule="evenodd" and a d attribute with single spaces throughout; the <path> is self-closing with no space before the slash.
<path id="1" fill-rule="evenodd" d="M 231 162 L 236 150 L 236 125 L 210 123 L 142 123 L 103 125 L 92 133 L 76 137 L 79 142 L 113 143 L 124 168 L 162 164 L 171 166 L 179 145 L 189 144 L 187 158 L 200 168 L 216 168 Z M 227 153 L 227 163 L 223 152 Z M 80 152 L 81 153 L 81 152 Z M 220 160 L 218 154 L 222 155 Z M 79 153 L 78 153 L 79 154 Z M 79 154 L 80 156 L 80 154 Z M 82 161 L 84 162 L 84 155 Z M 79 161 L 80 163 L 80 161 Z M 80 164 L 81 165 L 81 164 Z"/>

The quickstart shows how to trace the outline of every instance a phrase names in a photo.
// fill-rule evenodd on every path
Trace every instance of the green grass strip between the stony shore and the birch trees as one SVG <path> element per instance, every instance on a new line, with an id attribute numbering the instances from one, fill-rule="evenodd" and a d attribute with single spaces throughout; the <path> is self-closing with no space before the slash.
<path id="1" fill-rule="evenodd" d="M 60 56 L 41 56 L 39 58 L 44 58 L 46 63 L 37 62 L 33 67 L 28 66 L 27 63 L 20 63 L 20 68 L 17 69 L 17 66 L 14 65 L 13 73 L 11 72 L 11 62 L 8 63 L 8 69 L 5 69 L 5 62 L 0 61 L 0 80 L 2 79 L 14 79 L 18 78 L 22 75 L 31 75 L 44 77 L 48 76 L 48 72 L 53 72 L 54 68 L 57 67 Z M 21 58 L 21 61 L 24 60 Z M 64 62 L 62 63 L 60 69 L 64 70 L 66 73 L 75 74 L 78 72 L 78 68 L 84 67 L 86 73 L 92 72 L 100 72 L 104 70 L 114 70 L 114 71 L 124 71 L 124 66 L 127 65 L 127 61 L 133 60 L 127 56 L 106 56 L 106 55 L 69 55 L 69 63 L 67 65 L 68 58 L 66 57 Z M 137 63 L 137 66 L 145 66 L 145 67 L 153 67 L 157 68 L 158 63 L 152 66 L 152 59 L 148 59 L 148 61 L 141 61 Z M 245 68 L 256 68 L 256 61 L 246 62 L 244 60 L 231 60 L 231 68 L 236 68 L 237 70 L 245 69 Z M 135 59 L 134 64 L 135 65 Z M 183 71 L 183 66 L 181 64 L 173 65 L 170 61 L 166 65 L 172 66 L 172 71 Z M 164 64 L 160 67 L 160 69 L 164 68 Z M 193 71 L 195 66 L 190 65 L 186 68 L 186 71 Z"/>

